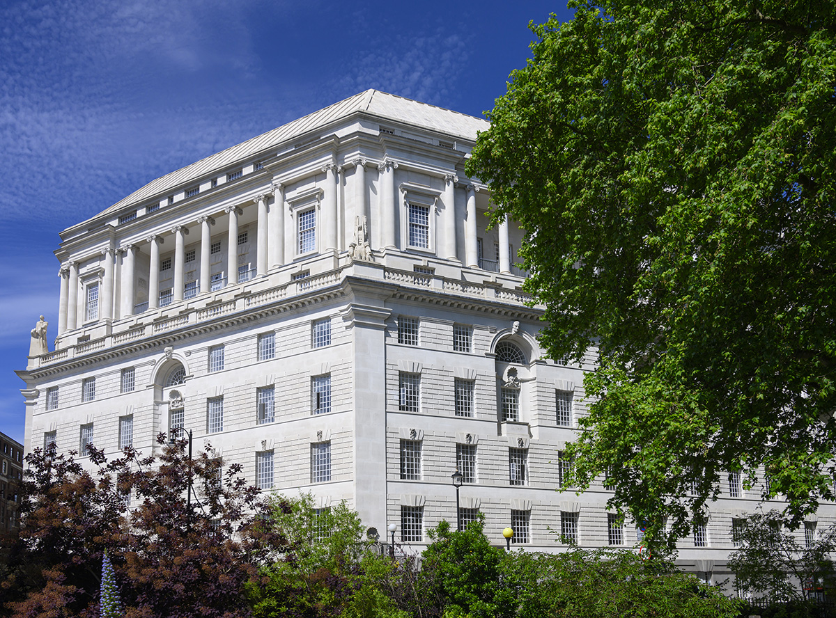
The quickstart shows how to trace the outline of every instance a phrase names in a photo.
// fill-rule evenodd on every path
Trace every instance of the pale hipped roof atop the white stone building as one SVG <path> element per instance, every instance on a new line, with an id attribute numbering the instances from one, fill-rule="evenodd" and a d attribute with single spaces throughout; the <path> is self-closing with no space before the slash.
<path id="1" fill-rule="evenodd" d="M 412 124 L 416 127 L 435 130 L 449 134 L 451 137 L 468 140 L 475 140 L 477 131 L 483 131 L 489 126 L 487 120 L 460 114 L 451 109 L 420 103 L 412 99 L 404 99 L 395 94 L 380 92 L 380 90 L 366 90 L 339 101 L 339 103 L 319 109 L 313 114 L 293 120 L 278 127 L 278 129 L 247 139 L 247 141 L 232 146 L 232 148 L 227 148 L 206 157 L 206 159 L 186 165 L 180 170 L 151 180 L 150 183 L 119 200 L 94 218 L 121 210 L 127 205 L 138 204 L 191 180 L 205 178 L 207 175 L 211 175 L 213 171 L 222 170 L 238 160 L 245 160 L 247 157 L 252 157 L 264 150 L 278 146 L 278 144 L 282 144 L 288 139 L 293 139 L 312 129 L 330 124 L 335 120 L 360 111 L 379 116 L 381 119 Z"/>

